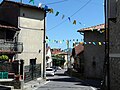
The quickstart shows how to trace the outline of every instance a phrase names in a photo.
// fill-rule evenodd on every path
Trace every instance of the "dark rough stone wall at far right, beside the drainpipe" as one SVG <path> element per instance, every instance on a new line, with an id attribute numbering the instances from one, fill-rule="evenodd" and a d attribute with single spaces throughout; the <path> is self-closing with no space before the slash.
<path id="1" fill-rule="evenodd" d="M 110 90 L 120 90 L 120 1 L 116 3 L 116 19 L 108 19 Z"/>

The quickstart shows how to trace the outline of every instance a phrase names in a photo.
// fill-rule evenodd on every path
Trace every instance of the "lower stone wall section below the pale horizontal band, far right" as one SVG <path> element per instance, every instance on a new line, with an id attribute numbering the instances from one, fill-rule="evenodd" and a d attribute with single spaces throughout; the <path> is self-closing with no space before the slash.
<path id="1" fill-rule="evenodd" d="M 120 57 L 112 57 L 110 60 L 110 89 L 120 90 Z"/>

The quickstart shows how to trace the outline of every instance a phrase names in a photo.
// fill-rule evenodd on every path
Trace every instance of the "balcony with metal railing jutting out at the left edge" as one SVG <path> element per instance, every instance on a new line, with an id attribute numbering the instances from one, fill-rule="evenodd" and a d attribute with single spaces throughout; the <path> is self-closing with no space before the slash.
<path id="1" fill-rule="evenodd" d="M 0 53 L 21 53 L 23 43 L 13 41 L 0 41 Z"/>

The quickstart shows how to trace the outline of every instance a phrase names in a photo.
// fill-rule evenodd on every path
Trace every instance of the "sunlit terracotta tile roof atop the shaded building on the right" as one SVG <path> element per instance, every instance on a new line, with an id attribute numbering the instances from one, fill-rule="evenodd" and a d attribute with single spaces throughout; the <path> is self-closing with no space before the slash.
<path id="1" fill-rule="evenodd" d="M 105 24 L 99 24 L 96 26 L 82 28 L 82 29 L 78 30 L 77 32 L 84 32 L 84 31 L 91 31 L 91 30 L 103 30 L 103 29 L 105 29 Z"/>

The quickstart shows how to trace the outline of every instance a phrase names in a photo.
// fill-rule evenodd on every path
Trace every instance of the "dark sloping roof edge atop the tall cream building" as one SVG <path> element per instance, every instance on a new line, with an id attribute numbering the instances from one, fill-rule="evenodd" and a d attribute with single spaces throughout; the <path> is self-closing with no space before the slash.
<path id="1" fill-rule="evenodd" d="M 28 8 L 40 9 L 40 10 L 44 11 L 44 8 L 41 8 L 41 7 L 37 7 L 37 6 L 29 5 L 29 4 L 24 4 L 24 3 L 21 3 L 21 2 L 10 1 L 10 0 L 3 0 L 3 2 L 0 5 L 2 5 L 4 2 L 17 4 L 19 6 L 28 7 Z"/>

